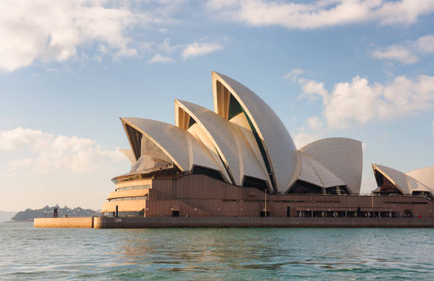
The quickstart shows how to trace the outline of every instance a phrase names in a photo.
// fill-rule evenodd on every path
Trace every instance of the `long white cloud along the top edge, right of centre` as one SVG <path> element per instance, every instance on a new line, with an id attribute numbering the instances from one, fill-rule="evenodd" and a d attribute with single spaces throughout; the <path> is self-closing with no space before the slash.
<path id="1" fill-rule="evenodd" d="M 434 11 L 434 1 L 426 0 L 316 0 L 311 2 L 238 0 L 207 3 L 208 9 L 220 11 L 222 18 L 252 26 L 285 28 L 323 28 L 350 23 L 376 21 L 382 25 L 410 24 Z"/>

